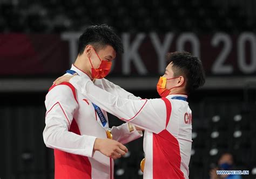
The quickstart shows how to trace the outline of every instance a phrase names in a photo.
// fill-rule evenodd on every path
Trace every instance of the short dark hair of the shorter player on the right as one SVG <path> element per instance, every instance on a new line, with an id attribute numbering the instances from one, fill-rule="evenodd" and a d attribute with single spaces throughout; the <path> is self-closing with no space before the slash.
<path id="1" fill-rule="evenodd" d="M 196 90 L 205 83 L 205 72 L 201 61 L 188 52 L 173 52 L 166 55 L 167 62 L 172 62 L 174 77 L 183 76 L 186 92 Z"/>

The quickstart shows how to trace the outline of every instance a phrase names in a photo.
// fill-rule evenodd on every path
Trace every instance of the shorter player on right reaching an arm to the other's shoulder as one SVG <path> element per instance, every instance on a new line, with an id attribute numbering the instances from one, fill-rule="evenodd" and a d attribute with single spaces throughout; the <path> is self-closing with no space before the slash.
<path id="1" fill-rule="evenodd" d="M 192 144 L 192 112 L 187 95 L 205 82 L 201 61 L 187 52 L 167 55 L 169 65 L 157 91 L 162 98 L 127 99 L 98 88 L 81 76 L 65 75 L 81 94 L 119 119 L 145 129 L 144 178 L 188 178 Z"/>

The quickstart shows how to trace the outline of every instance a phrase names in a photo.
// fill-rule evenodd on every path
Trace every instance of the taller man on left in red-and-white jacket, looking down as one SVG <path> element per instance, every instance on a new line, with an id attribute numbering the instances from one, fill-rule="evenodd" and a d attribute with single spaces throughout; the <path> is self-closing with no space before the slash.
<path id="1" fill-rule="evenodd" d="M 104 79 L 116 53 L 123 51 L 122 42 L 111 27 L 87 27 L 78 44 L 77 59 L 68 73 L 96 80 L 99 88 L 114 95 L 134 98 Z M 142 131 L 129 123 L 109 128 L 106 111 L 70 83 L 52 85 L 45 107 L 43 138 L 45 145 L 54 149 L 56 179 L 112 179 L 113 159 L 127 152 L 123 144 L 142 137 Z"/>

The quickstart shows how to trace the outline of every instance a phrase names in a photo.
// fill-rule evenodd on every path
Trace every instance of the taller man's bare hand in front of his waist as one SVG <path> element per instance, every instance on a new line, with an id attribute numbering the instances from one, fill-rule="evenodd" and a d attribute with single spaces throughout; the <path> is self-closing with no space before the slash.
<path id="1" fill-rule="evenodd" d="M 116 140 L 97 138 L 95 140 L 93 151 L 99 151 L 112 159 L 119 159 L 122 155 L 125 155 L 128 152 L 128 149 Z"/>

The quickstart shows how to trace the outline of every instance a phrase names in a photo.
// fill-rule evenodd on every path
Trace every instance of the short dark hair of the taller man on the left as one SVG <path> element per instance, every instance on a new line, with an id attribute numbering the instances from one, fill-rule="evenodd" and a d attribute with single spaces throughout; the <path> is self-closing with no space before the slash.
<path id="1" fill-rule="evenodd" d="M 113 28 L 106 25 L 91 25 L 80 35 L 78 41 L 78 55 L 82 55 L 87 45 L 92 45 L 96 51 L 110 45 L 117 53 L 123 53 L 123 44 Z"/>

